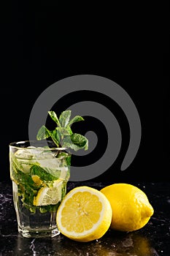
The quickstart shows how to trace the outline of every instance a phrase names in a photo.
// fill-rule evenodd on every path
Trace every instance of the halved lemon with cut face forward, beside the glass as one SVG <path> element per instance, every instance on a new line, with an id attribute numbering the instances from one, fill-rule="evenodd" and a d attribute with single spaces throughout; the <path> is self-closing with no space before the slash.
<path id="1" fill-rule="evenodd" d="M 112 208 L 107 197 L 97 189 L 76 187 L 61 201 L 56 220 L 64 236 L 74 241 L 93 241 L 109 229 Z"/>

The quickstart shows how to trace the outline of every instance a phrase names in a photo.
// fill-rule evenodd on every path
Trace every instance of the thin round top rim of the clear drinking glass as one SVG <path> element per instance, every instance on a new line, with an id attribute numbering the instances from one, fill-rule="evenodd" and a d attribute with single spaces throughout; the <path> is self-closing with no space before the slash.
<path id="1" fill-rule="evenodd" d="M 24 144 L 26 143 L 30 143 L 29 146 L 25 146 L 24 147 Z M 34 147 L 33 145 L 31 145 L 31 143 L 45 143 L 44 146 L 49 146 L 47 143 L 53 143 L 53 147 L 49 147 L 49 148 L 45 148 L 43 146 L 39 146 L 39 147 Z M 23 145 L 23 147 L 22 147 Z M 38 146 L 38 145 L 37 145 Z M 10 148 L 16 148 L 16 149 L 21 149 L 21 148 L 24 148 L 26 150 L 58 150 L 58 151 L 62 151 L 62 150 L 65 150 L 68 149 L 68 148 L 63 148 L 63 147 L 55 147 L 55 143 L 53 142 L 53 140 L 20 140 L 20 141 L 14 141 L 12 143 L 9 143 L 9 147 Z"/>

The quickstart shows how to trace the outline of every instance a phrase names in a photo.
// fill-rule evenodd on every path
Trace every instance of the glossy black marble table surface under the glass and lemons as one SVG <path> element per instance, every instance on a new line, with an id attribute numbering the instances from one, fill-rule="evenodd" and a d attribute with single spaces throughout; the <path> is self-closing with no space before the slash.
<path id="1" fill-rule="evenodd" d="M 121 233 L 108 230 L 100 239 L 88 243 L 72 241 L 62 234 L 54 238 L 22 238 L 18 234 L 12 183 L 0 182 L 0 255 L 54 256 L 169 256 L 170 255 L 170 183 L 131 183 L 142 189 L 155 212 L 140 230 Z M 86 185 L 101 189 L 107 184 L 68 183 L 68 191 Z"/>

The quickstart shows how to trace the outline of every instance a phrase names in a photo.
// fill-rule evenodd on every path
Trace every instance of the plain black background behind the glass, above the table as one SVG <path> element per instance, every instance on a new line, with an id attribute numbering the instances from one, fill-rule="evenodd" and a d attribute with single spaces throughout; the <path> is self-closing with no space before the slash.
<path id="1" fill-rule="evenodd" d="M 58 80 L 81 74 L 118 83 L 134 101 L 142 122 L 134 162 L 121 172 L 122 150 L 112 167 L 94 181 L 167 181 L 169 3 L 35 2 L 8 1 L 1 8 L 1 181 L 9 180 L 9 143 L 28 139 L 28 120 L 39 94 Z M 83 95 L 90 97 L 88 92 Z M 77 94 L 72 95 L 74 100 Z M 105 98 L 102 104 L 115 108 L 127 146 L 123 113 Z M 59 110 L 65 107 L 60 105 Z M 95 119 L 87 121 L 100 133 Z M 81 132 L 80 124 L 75 128 Z M 93 157 L 101 153 L 98 148 Z"/>

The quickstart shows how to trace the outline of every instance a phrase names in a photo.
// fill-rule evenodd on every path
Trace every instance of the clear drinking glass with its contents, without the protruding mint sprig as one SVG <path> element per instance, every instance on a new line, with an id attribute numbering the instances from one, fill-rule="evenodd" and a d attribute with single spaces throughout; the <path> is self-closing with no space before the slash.
<path id="1" fill-rule="evenodd" d="M 66 195 L 71 154 L 52 141 L 9 144 L 10 177 L 18 232 L 23 237 L 54 237 L 56 214 Z"/>

